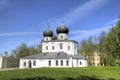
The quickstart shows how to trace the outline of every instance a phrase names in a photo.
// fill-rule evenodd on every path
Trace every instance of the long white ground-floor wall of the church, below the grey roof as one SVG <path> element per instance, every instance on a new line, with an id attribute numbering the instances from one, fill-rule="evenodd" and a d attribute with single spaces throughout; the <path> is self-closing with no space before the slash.
<path id="1" fill-rule="evenodd" d="M 58 65 L 56 65 L 56 60 L 58 61 Z M 63 61 L 63 65 L 61 65 L 61 60 Z M 86 67 L 87 61 L 81 59 L 20 59 L 20 68 L 29 68 L 29 61 L 31 61 L 31 68 L 39 68 L 39 67 Z M 33 61 L 36 61 L 36 65 L 33 65 Z M 49 66 L 49 61 L 51 61 L 51 66 Z M 67 65 L 68 61 L 68 65 Z M 26 66 L 24 66 L 24 62 L 26 62 Z M 81 64 L 80 64 L 81 62 Z"/>

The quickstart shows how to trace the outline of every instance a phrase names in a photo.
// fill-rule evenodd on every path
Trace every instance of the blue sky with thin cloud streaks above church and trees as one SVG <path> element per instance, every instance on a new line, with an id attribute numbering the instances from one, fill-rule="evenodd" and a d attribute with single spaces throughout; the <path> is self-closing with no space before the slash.
<path id="1" fill-rule="evenodd" d="M 63 19 L 69 38 L 80 42 L 108 31 L 119 15 L 120 0 L 0 0 L 0 53 L 40 44 L 48 23 L 56 34 Z"/>

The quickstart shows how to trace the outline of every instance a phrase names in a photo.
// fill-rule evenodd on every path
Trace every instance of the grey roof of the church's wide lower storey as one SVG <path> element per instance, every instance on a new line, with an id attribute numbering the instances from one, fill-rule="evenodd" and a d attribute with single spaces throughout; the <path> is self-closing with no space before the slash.
<path id="1" fill-rule="evenodd" d="M 51 52 L 51 53 L 39 53 L 27 57 L 23 57 L 21 59 L 85 59 L 82 55 L 68 55 L 64 52 Z"/>

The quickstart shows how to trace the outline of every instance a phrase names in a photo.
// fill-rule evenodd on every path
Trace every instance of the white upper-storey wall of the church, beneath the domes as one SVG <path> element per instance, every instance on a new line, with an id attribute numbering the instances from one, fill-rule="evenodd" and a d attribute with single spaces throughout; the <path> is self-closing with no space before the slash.
<path id="1" fill-rule="evenodd" d="M 63 48 L 60 49 L 60 44 L 62 44 Z M 48 46 L 48 50 L 46 50 L 46 46 Z M 54 50 L 52 49 L 54 46 Z M 70 46 L 70 49 L 68 49 Z M 77 43 L 74 42 L 43 42 L 42 43 L 42 53 L 44 52 L 65 52 L 67 54 L 75 55 L 77 54 Z"/>

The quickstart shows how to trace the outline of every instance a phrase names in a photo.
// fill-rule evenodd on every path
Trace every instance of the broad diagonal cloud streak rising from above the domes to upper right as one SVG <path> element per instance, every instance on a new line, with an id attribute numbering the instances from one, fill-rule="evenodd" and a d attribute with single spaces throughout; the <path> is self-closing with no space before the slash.
<path id="1" fill-rule="evenodd" d="M 60 19 L 62 18 L 64 19 L 65 24 L 71 25 L 76 21 L 82 20 L 84 17 L 91 14 L 92 12 L 104 7 L 104 5 L 109 2 L 106 0 L 89 0 L 88 2 L 78 6 L 72 11 L 60 16 L 55 16 L 55 18 L 52 18 L 46 22 L 40 23 L 39 25 L 45 26 L 46 24 L 48 24 L 48 22 L 50 22 L 50 24 L 53 23 L 52 26 L 56 28 L 57 25 L 60 24 Z"/>

